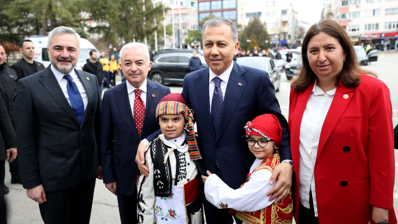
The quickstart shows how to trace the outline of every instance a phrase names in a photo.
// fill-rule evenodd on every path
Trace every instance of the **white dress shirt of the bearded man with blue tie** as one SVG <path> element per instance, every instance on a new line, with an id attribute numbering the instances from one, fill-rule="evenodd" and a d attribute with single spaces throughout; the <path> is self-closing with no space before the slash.
<path id="1" fill-rule="evenodd" d="M 68 89 L 66 88 L 66 85 L 68 84 L 68 80 L 64 79 L 64 75 L 67 75 L 67 74 L 61 73 L 60 71 L 56 70 L 53 66 L 50 66 L 50 69 L 54 73 L 54 76 L 57 79 L 58 84 L 61 87 L 62 92 L 64 93 L 64 95 L 66 97 L 66 100 L 68 100 L 69 105 L 72 106 L 72 104 L 70 103 Z M 88 103 L 86 89 L 84 88 L 83 83 L 80 80 L 79 76 L 76 75 L 76 73 L 74 72 L 74 69 L 69 73 L 69 75 L 70 75 L 70 77 L 72 77 L 72 81 L 74 81 L 74 83 L 76 83 L 76 86 L 80 92 L 80 96 L 82 96 L 82 99 L 83 99 L 84 110 L 86 110 L 87 103 Z"/>

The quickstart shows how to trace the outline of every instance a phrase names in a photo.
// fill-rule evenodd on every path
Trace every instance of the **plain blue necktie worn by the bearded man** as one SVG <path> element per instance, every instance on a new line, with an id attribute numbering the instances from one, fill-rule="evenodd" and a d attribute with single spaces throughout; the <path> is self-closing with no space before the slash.
<path id="1" fill-rule="evenodd" d="M 76 114 L 76 118 L 79 121 L 79 124 L 82 124 L 84 116 L 83 98 L 80 95 L 76 83 L 72 81 L 72 77 L 70 77 L 70 75 L 64 75 L 64 79 L 68 81 L 68 84 L 66 85 L 66 90 L 68 90 L 68 96 L 70 104 L 72 104 L 73 112 Z"/>

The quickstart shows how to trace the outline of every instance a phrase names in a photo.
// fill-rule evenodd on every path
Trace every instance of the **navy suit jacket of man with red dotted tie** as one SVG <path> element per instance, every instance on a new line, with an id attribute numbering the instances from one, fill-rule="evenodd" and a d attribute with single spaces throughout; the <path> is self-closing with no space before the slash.
<path id="1" fill-rule="evenodd" d="M 117 182 L 117 192 L 133 195 L 139 174 L 135 155 L 141 140 L 152 141 L 162 132 L 156 106 L 170 93 L 167 86 L 147 79 L 145 118 L 140 138 L 135 128 L 127 84 L 123 82 L 103 94 L 101 111 L 101 164 L 104 183 Z"/>

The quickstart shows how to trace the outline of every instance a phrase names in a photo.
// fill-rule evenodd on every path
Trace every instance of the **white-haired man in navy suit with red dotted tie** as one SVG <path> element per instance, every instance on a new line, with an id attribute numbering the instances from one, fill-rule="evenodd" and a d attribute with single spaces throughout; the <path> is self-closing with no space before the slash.
<path id="1" fill-rule="evenodd" d="M 137 223 L 137 147 L 162 133 L 155 110 L 170 88 L 146 79 L 152 61 L 142 43 L 126 44 L 120 57 L 126 82 L 103 95 L 101 162 L 105 187 L 117 195 L 121 223 L 133 224 Z"/>

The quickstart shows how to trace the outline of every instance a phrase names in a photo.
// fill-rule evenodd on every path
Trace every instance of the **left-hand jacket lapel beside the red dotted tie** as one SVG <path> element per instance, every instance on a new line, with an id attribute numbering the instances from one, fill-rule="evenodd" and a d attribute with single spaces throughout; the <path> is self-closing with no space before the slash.
<path id="1" fill-rule="evenodd" d="M 137 128 L 135 128 L 133 113 L 131 112 L 129 94 L 127 93 L 127 85 L 126 82 L 120 84 L 121 88 L 114 91 L 115 94 L 115 102 L 117 107 L 120 110 L 120 113 L 125 120 L 127 127 L 129 127 L 130 131 L 133 133 L 134 137 L 139 140 Z M 117 88 L 117 87 L 114 87 Z"/>

